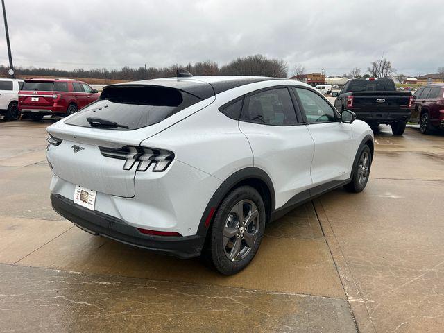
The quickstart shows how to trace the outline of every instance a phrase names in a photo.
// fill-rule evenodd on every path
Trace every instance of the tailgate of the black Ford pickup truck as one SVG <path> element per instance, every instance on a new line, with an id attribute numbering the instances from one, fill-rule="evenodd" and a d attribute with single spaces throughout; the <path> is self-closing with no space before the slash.
<path id="1" fill-rule="evenodd" d="M 411 92 L 353 92 L 353 109 L 393 112 L 409 108 Z"/>

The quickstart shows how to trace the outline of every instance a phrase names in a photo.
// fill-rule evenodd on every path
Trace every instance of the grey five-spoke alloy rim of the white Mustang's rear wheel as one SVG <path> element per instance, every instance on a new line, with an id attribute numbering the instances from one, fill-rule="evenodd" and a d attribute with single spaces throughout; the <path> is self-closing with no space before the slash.
<path id="1" fill-rule="evenodd" d="M 244 259 L 259 234 L 259 212 L 251 200 L 234 204 L 223 228 L 223 250 L 232 262 Z"/>

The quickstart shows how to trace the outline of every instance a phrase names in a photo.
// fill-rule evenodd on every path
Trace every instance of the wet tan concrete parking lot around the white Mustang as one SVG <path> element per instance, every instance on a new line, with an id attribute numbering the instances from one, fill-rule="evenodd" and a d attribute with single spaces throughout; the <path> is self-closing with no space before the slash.
<path id="1" fill-rule="evenodd" d="M 50 123 L 0 121 L 0 332 L 443 332 L 442 133 L 381 126 L 364 192 L 271 223 L 223 277 L 53 212 Z"/>

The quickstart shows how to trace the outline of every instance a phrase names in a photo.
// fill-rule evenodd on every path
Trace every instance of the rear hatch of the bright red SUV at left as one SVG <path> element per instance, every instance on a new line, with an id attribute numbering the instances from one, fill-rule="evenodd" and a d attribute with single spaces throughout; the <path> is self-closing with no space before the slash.
<path id="1" fill-rule="evenodd" d="M 19 108 L 46 109 L 53 106 L 54 83 L 48 80 L 25 80 L 19 92 Z"/>

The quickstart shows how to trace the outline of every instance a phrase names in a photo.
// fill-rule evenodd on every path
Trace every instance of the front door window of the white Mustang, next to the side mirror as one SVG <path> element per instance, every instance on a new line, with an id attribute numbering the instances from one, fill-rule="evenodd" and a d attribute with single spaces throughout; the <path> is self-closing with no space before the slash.
<path id="1" fill-rule="evenodd" d="M 309 123 L 336 121 L 333 108 L 316 92 L 309 89 L 293 88 L 299 96 Z"/>

